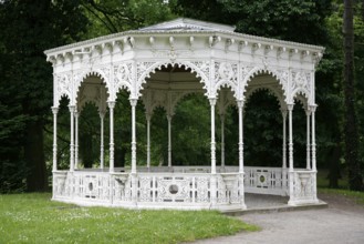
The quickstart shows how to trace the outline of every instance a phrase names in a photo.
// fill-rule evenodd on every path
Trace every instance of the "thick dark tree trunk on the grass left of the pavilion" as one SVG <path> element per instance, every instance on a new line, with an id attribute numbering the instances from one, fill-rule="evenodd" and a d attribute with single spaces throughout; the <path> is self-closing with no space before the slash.
<path id="1" fill-rule="evenodd" d="M 29 122 L 25 129 L 24 156 L 29 169 L 27 190 L 29 192 L 46 191 L 48 175 L 43 149 L 43 122 Z"/>

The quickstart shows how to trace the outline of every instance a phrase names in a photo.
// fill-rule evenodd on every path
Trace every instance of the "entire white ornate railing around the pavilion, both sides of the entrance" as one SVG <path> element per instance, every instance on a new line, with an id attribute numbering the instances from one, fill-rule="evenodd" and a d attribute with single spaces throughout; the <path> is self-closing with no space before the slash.
<path id="1" fill-rule="evenodd" d="M 164 167 L 166 169 L 168 167 Z M 86 170 L 56 171 L 53 172 L 53 199 L 85 205 L 158 209 L 242 207 L 245 192 L 290 194 L 291 205 L 318 201 L 313 171 L 287 172 L 280 167 L 247 166 L 245 174 L 239 174 L 231 173 L 237 171 L 237 167 L 226 166 L 223 170 L 227 173 L 200 173 L 208 172 L 208 166 L 189 169 L 175 166 L 171 169 L 173 173 L 138 172 L 136 174 Z"/>

